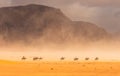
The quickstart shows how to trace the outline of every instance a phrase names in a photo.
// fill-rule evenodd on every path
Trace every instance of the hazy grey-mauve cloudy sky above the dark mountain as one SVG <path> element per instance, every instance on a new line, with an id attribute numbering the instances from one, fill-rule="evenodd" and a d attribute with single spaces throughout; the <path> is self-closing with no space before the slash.
<path id="1" fill-rule="evenodd" d="M 11 0 L 11 5 L 37 3 L 60 8 L 72 20 L 96 23 L 108 31 L 120 30 L 120 0 Z M 9 5 L 10 0 L 0 0 Z"/>

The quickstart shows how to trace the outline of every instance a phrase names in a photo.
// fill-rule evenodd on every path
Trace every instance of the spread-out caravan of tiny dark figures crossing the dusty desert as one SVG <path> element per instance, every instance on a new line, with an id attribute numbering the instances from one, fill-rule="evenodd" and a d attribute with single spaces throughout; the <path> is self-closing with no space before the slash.
<path id="1" fill-rule="evenodd" d="M 23 57 L 21 58 L 21 60 L 26 60 L 26 59 L 27 59 L 27 58 L 26 58 L 25 56 L 23 56 Z M 34 61 L 35 61 L 35 60 L 43 60 L 43 58 L 42 58 L 42 57 L 33 57 L 33 60 L 34 60 Z M 65 60 L 65 57 L 61 57 L 60 60 Z M 76 57 L 76 58 L 74 58 L 73 60 L 74 60 L 74 61 L 78 61 L 79 58 Z M 88 60 L 90 60 L 90 58 L 89 58 L 89 57 L 86 57 L 85 60 L 88 61 Z M 94 58 L 94 60 L 97 61 L 97 60 L 99 60 L 99 58 L 96 57 L 96 58 Z"/>

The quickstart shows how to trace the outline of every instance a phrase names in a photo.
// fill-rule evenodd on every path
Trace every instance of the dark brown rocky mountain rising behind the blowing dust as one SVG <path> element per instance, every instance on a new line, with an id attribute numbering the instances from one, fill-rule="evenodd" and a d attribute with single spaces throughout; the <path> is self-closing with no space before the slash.
<path id="1" fill-rule="evenodd" d="M 43 5 L 0 8 L 0 38 L 4 41 L 99 40 L 108 33 L 88 22 L 73 22 L 59 9 Z"/>

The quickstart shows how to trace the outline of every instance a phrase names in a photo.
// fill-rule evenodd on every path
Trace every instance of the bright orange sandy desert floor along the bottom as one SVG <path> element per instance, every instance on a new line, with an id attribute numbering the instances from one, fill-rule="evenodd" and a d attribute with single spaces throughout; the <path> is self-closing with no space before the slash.
<path id="1" fill-rule="evenodd" d="M 120 62 L 0 60 L 0 76 L 120 76 Z"/>

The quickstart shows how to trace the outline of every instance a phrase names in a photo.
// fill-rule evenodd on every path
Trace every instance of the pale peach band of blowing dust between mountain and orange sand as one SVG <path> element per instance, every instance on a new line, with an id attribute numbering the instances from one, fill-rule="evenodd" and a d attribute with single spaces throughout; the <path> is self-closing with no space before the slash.
<path id="1" fill-rule="evenodd" d="M 26 56 L 27 60 L 32 60 L 33 57 L 43 57 L 43 61 L 59 61 L 60 57 L 65 57 L 66 60 L 72 61 L 74 57 L 78 57 L 84 61 L 85 57 L 89 57 L 90 61 L 94 61 L 95 57 L 99 57 L 100 61 L 119 61 L 119 45 L 119 40 L 31 45 L 18 42 L 8 43 L 0 47 L 0 59 L 19 61 L 22 56 Z"/>

